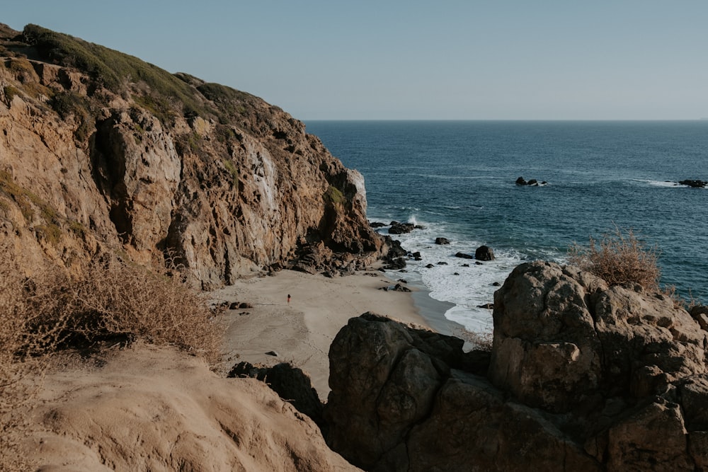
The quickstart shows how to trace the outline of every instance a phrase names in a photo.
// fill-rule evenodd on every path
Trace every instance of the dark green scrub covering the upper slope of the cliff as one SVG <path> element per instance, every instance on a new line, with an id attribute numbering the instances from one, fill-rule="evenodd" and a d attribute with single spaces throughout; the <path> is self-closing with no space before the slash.
<path id="1" fill-rule="evenodd" d="M 164 125 L 171 124 L 180 115 L 212 118 L 221 125 L 229 125 L 234 119 L 249 115 L 249 111 L 260 101 L 249 93 L 205 83 L 185 73 L 171 74 L 129 54 L 38 25 L 26 25 L 22 38 L 41 60 L 77 69 L 90 76 L 99 88 L 106 88 L 124 98 L 131 97 Z M 32 64 L 24 57 L 16 57 L 6 67 L 18 74 L 36 75 Z M 28 82 L 35 83 L 36 80 Z M 95 108 L 92 103 L 98 99 L 94 96 L 96 86 L 89 86 L 89 98 L 85 100 L 70 92 L 55 97 L 53 91 L 45 88 L 25 92 L 30 96 L 42 93 L 50 98 L 50 105 L 62 118 L 73 114 L 77 120 L 90 124 L 93 116 L 91 109 Z M 6 89 L 6 100 L 11 100 L 17 91 Z M 88 137 L 88 134 L 79 132 L 77 138 L 81 140 L 82 137 Z"/>

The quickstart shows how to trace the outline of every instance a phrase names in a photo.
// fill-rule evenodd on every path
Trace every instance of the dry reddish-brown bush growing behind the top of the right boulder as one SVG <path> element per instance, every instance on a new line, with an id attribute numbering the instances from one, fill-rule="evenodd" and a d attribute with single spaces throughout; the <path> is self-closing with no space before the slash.
<path id="1" fill-rule="evenodd" d="M 571 246 L 569 262 L 591 272 L 610 285 L 640 284 L 648 290 L 659 289 L 661 272 L 656 248 L 646 248 L 632 229 L 615 229 L 600 241 L 590 238 L 588 246 Z"/>

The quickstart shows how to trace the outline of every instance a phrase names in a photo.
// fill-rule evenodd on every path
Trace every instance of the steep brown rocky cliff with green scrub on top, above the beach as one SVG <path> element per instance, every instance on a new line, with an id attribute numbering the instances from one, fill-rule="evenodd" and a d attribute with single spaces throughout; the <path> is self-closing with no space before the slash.
<path id="1" fill-rule="evenodd" d="M 25 267 L 168 255 L 213 288 L 381 251 L 362 176 L 279 108 L 32 25 L 0 33 L 1 243 Z"/>

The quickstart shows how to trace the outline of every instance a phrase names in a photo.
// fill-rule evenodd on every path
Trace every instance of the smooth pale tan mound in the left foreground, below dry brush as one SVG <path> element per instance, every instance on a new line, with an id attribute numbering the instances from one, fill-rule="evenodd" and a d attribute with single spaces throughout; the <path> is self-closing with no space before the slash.
<path id="1" fill-rule="evenodd" d="M 28 457 L 42 471 L 356 471 L 255 379 L 137 345 L 45 379 Z"/>

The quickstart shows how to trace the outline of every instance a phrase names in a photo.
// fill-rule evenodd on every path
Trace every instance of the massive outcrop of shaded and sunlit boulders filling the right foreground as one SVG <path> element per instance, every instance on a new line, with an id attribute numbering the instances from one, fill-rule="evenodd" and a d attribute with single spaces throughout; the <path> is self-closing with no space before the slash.
<path id="1" fill-rule="evenodd" d="M 350 320 L 330 350 L 328 444 L 377 471 L 705 470 L 708 333 L 671 299 L 527 263 L 493 320 L 486 358 Z"/>

